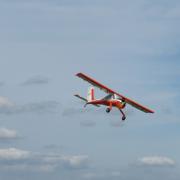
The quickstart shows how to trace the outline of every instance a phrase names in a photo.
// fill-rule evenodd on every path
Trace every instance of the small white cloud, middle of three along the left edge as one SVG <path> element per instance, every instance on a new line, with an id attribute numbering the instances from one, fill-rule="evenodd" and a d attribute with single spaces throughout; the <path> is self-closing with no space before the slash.
<path id="1" fill-rule="evenodd" d="M 17 136 L 18 135 L 15 130 L 0 128 L 0 139 L 15 139 Z"/>

